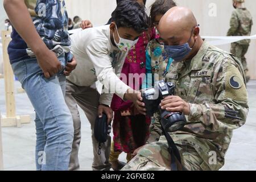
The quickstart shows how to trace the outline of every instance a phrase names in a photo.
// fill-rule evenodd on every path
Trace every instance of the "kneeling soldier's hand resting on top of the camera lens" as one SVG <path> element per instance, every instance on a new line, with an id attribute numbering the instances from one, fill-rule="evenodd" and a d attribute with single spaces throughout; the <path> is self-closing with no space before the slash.
<path id="1" fill-rule="evenodd" d="M 160 104 L 161 109 L 171 112 L 180 112 L 189 115 L 189 104 L 178 96 L 168 96 L 164 98 Z"/>

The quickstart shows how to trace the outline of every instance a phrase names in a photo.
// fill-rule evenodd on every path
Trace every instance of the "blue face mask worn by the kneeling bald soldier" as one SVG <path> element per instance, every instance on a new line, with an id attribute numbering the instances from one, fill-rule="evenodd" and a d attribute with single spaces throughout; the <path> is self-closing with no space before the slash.
<path id="1" fill-rule="evenodd" d="M 194 30 L 194 29 L 193 29 Z M 192 33 L 193 33 L 192 30 Z M 191 37 L 189 38 L 188 42 L 190 42 L 192 38 L 192 33 Z M 183 61 L 185 57 L 192 51 L 192 48 L 194 47 L 195 43 L 193 44 L 192 48 L 189 47 L 189 44 L 185 43 L 179 46 L 168 46 L 164 45 L 164 51 L 166 51 L 167 55 L 174 59 L 175 61 Z"/>

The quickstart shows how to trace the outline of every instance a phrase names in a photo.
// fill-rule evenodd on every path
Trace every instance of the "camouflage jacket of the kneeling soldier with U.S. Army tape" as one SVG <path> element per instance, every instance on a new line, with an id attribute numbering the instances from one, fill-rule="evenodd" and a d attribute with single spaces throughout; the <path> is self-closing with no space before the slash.
<path id="1" fill-rule="evenodd" d="M 176 95 L 190 106 L 187 125 L 170 133 L 174 142 L 195 148 L 206 164 L 210 152 L 215 151 L 218 164 L 208 166 L 213 170 L 221 168 L 232 130 L 246 122 L 249 109 L 240 61 L 204 42 L 192 60 L 173 62 L 166 81 L 176 84 Z M 159 121 L 160 115 L 155 113 L 148 142 L 165 140 Z"/>

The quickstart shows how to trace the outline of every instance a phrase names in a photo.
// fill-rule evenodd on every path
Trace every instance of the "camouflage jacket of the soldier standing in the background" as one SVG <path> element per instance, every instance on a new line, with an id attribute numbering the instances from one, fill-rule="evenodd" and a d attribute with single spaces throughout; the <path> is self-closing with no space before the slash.
<path id="1" fill-rule="evenodd" d="M 230 19 L 230 28 L 227 36 L 250 36 L 253 18 L 246 8 L 237 8 Z M 250 40 L 241 40 L 238 44 L 247 45 Z"/>

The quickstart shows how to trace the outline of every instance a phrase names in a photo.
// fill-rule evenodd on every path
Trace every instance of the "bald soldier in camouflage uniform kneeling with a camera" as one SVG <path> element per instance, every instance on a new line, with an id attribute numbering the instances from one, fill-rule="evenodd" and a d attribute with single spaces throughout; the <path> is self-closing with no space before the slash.
<path id="1" fill-rule="evenodd" d="M 191 29 L 185 27 L 189 24 L 191 38 Z M 187 170 L 218 170 L 224 166 L 232 130 L 246 122 L 249 107 L 245 73 L 236 56 L 204 42 L 195 24 L 195 16 L 184 7 L 172 8 L 160 20 L 160 36 L 169 45 L 183 44 L 189 38 L 192 47 L 184 59 L 172 63 L 166 81 L 176 84 L 176 96 L 164 98 L 161 106 L 186 115 L 187 125 L 170 133 L 180 152 L 181 165 Z M 159 113 L 152 119 L 148 144 L 136 152 L 122 170 L 170 170 L 171 156 Z"/>

